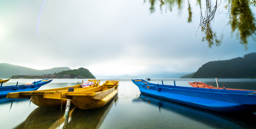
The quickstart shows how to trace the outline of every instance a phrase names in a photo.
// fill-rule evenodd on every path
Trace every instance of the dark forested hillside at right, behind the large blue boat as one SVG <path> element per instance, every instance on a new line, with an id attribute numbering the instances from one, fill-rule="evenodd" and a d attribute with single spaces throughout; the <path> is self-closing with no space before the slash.
<path id="1" fill-rule="evenodd" d="M 256 53 L 205 63 L 192 78 L 256 78 Z"/>

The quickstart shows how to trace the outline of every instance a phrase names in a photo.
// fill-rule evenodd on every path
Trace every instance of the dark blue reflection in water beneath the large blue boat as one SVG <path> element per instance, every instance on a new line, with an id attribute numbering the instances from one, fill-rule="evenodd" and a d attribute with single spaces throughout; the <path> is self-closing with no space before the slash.
<path id="1" fill-rule="evenodd" d="M 173 101 L 163 100 L 156 97 L 140 94 L 133 102 L 146 102 L 149 105 L 158 106 L 159 111 L 169 110 L 187 118 L 199 121 L 212 128 L 255 128 L 256 115 L 247 114 L 225 114 L 216 111 L 196 108 Z"/>

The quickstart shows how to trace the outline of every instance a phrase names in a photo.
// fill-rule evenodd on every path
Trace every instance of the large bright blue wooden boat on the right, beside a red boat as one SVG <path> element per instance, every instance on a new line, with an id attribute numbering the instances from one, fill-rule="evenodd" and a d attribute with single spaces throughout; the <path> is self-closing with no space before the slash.
<path id="1" fill-rule="evenodd" d="M 255 91 L 219 90 L 132 80 L 142 94 L 224 113 L 256 111 Z"/>

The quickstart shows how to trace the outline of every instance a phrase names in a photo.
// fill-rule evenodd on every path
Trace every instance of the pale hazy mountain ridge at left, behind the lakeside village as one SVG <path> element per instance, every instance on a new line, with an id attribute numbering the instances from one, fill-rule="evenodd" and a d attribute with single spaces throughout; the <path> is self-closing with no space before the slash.
<path id="1" fill-rule="evenodd" d="M 11 65 L 8 63 L 0 63 L 0 78 L 10 78 L 14 75 L 42 75 L 58 73 L 61 71 L 71 70 L 69 67 L 55 67 L 47 70 L 35 70 L 23 66 Z"/>

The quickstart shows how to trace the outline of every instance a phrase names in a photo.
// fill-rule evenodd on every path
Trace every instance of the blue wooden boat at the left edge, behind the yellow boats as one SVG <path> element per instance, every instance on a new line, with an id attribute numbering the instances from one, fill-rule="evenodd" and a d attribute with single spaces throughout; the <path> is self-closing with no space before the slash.
<path id="1" fill-rule="evenodd" d="M 48 79 L 43 79 L 40 81 L 34 81 L 31 83 L 26 83 L 23 85 L 18 85 L 18 82 L 14 86 L 0 86 L 0 97 L 2 96 L 7 96 L 8 93 L 11 92 L 21 92 L 21 91 L 32 91 L 32 90 L 37 90 L 41 86 L 50 83 L 52 80 Z"/>

